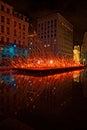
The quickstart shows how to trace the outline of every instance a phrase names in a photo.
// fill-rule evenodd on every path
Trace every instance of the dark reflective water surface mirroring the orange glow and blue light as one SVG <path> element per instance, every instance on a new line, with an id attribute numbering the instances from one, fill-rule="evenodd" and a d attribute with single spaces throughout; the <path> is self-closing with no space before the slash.
<path id="1" fill-rule="evenodd" d="M 87 72 L 49 76 L 0 72 L 0 112 L 35 130 L 87 128 Z"/>

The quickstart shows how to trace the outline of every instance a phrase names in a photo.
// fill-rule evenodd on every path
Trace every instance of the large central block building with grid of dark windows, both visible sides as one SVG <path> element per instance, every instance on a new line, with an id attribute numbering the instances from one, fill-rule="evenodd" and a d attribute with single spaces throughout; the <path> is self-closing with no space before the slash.
<path id="1" fill-rule="evenodd" d="M 37 34 L 55 55 L 73 57 L 73 26 L 59 13 L 38 18 Z"/>

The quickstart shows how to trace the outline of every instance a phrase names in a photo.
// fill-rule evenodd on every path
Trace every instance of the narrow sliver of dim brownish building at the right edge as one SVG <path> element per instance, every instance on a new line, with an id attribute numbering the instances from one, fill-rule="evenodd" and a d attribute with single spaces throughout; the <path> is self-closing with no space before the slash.
<path id="1" fill-rule="evenodd" d="M 87 64 L 87 32 L 83 37 L 83 43 L 81 45 L 81 62 Z"/>

